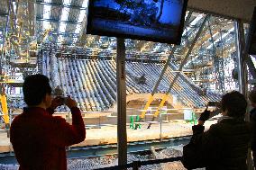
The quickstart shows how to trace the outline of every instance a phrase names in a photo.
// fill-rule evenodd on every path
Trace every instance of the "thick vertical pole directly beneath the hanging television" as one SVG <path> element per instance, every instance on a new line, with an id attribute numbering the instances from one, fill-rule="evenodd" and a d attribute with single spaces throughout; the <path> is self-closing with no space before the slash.
<path id="1" fill-rule="evenodd" d="M 117 39 L 116 85 L 118 166 L 123 166 L 127 164 L 125 44 L 124 40 L 119 38 Z"/>

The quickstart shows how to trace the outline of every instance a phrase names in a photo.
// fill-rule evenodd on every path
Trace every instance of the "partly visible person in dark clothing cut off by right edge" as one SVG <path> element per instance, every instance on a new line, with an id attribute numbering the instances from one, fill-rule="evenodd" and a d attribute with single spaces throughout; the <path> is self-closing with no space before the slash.
<path id="1" fill-rule="evenodd" d="M 255 88 L 249 93 L 248 97 L 252 107 L 250 112 L 250 122 L 253 130 L 252 139 L 251 139 L 251 151 L 253 156 L 254 167 L 256 168 L 256 132 L 255 132 L 256 131 L 256 89 Z"/>

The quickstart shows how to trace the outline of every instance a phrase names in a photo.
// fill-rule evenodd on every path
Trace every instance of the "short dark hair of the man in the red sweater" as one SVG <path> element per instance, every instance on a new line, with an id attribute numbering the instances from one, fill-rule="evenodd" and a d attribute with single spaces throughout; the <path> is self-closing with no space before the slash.
<path id="1" fill-rule="evenodd" d="M 24 101 L 29 106 L 41 103 L 46 94 L 51 94 L 49 78 L 44 75 L 27 76 L 23 83 Z"/>

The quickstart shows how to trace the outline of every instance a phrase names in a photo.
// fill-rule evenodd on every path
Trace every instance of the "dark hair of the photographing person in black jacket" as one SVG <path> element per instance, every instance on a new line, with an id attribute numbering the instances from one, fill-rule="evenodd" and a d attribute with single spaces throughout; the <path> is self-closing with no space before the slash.
<path id="1" fill-rule="evenodd" d="M 243 94 L 233 91 L 224 94 L 221 101 L 221 110 L 227 110 L 227 115 L 231 117 L 244 117 L 246 112 L 247 102 Z"/>

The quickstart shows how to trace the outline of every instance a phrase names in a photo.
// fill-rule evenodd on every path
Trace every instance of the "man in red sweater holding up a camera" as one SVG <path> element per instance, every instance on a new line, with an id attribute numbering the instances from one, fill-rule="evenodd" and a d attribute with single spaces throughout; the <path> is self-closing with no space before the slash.
<path id="1" fill-rule="evenodd" d="M 24 101 L 28 107 L 11 125 L 11 142 L 20 170 L 66 170 L 65 147 L 86 138 L 85 124 L 78 104 L 70 97 L 65 104 L 72 113 L 72 125 L 52 116 L 64 104 L 59 97 L 51 99 L 49 78 L 27 76 L 23 83 Z"/>

